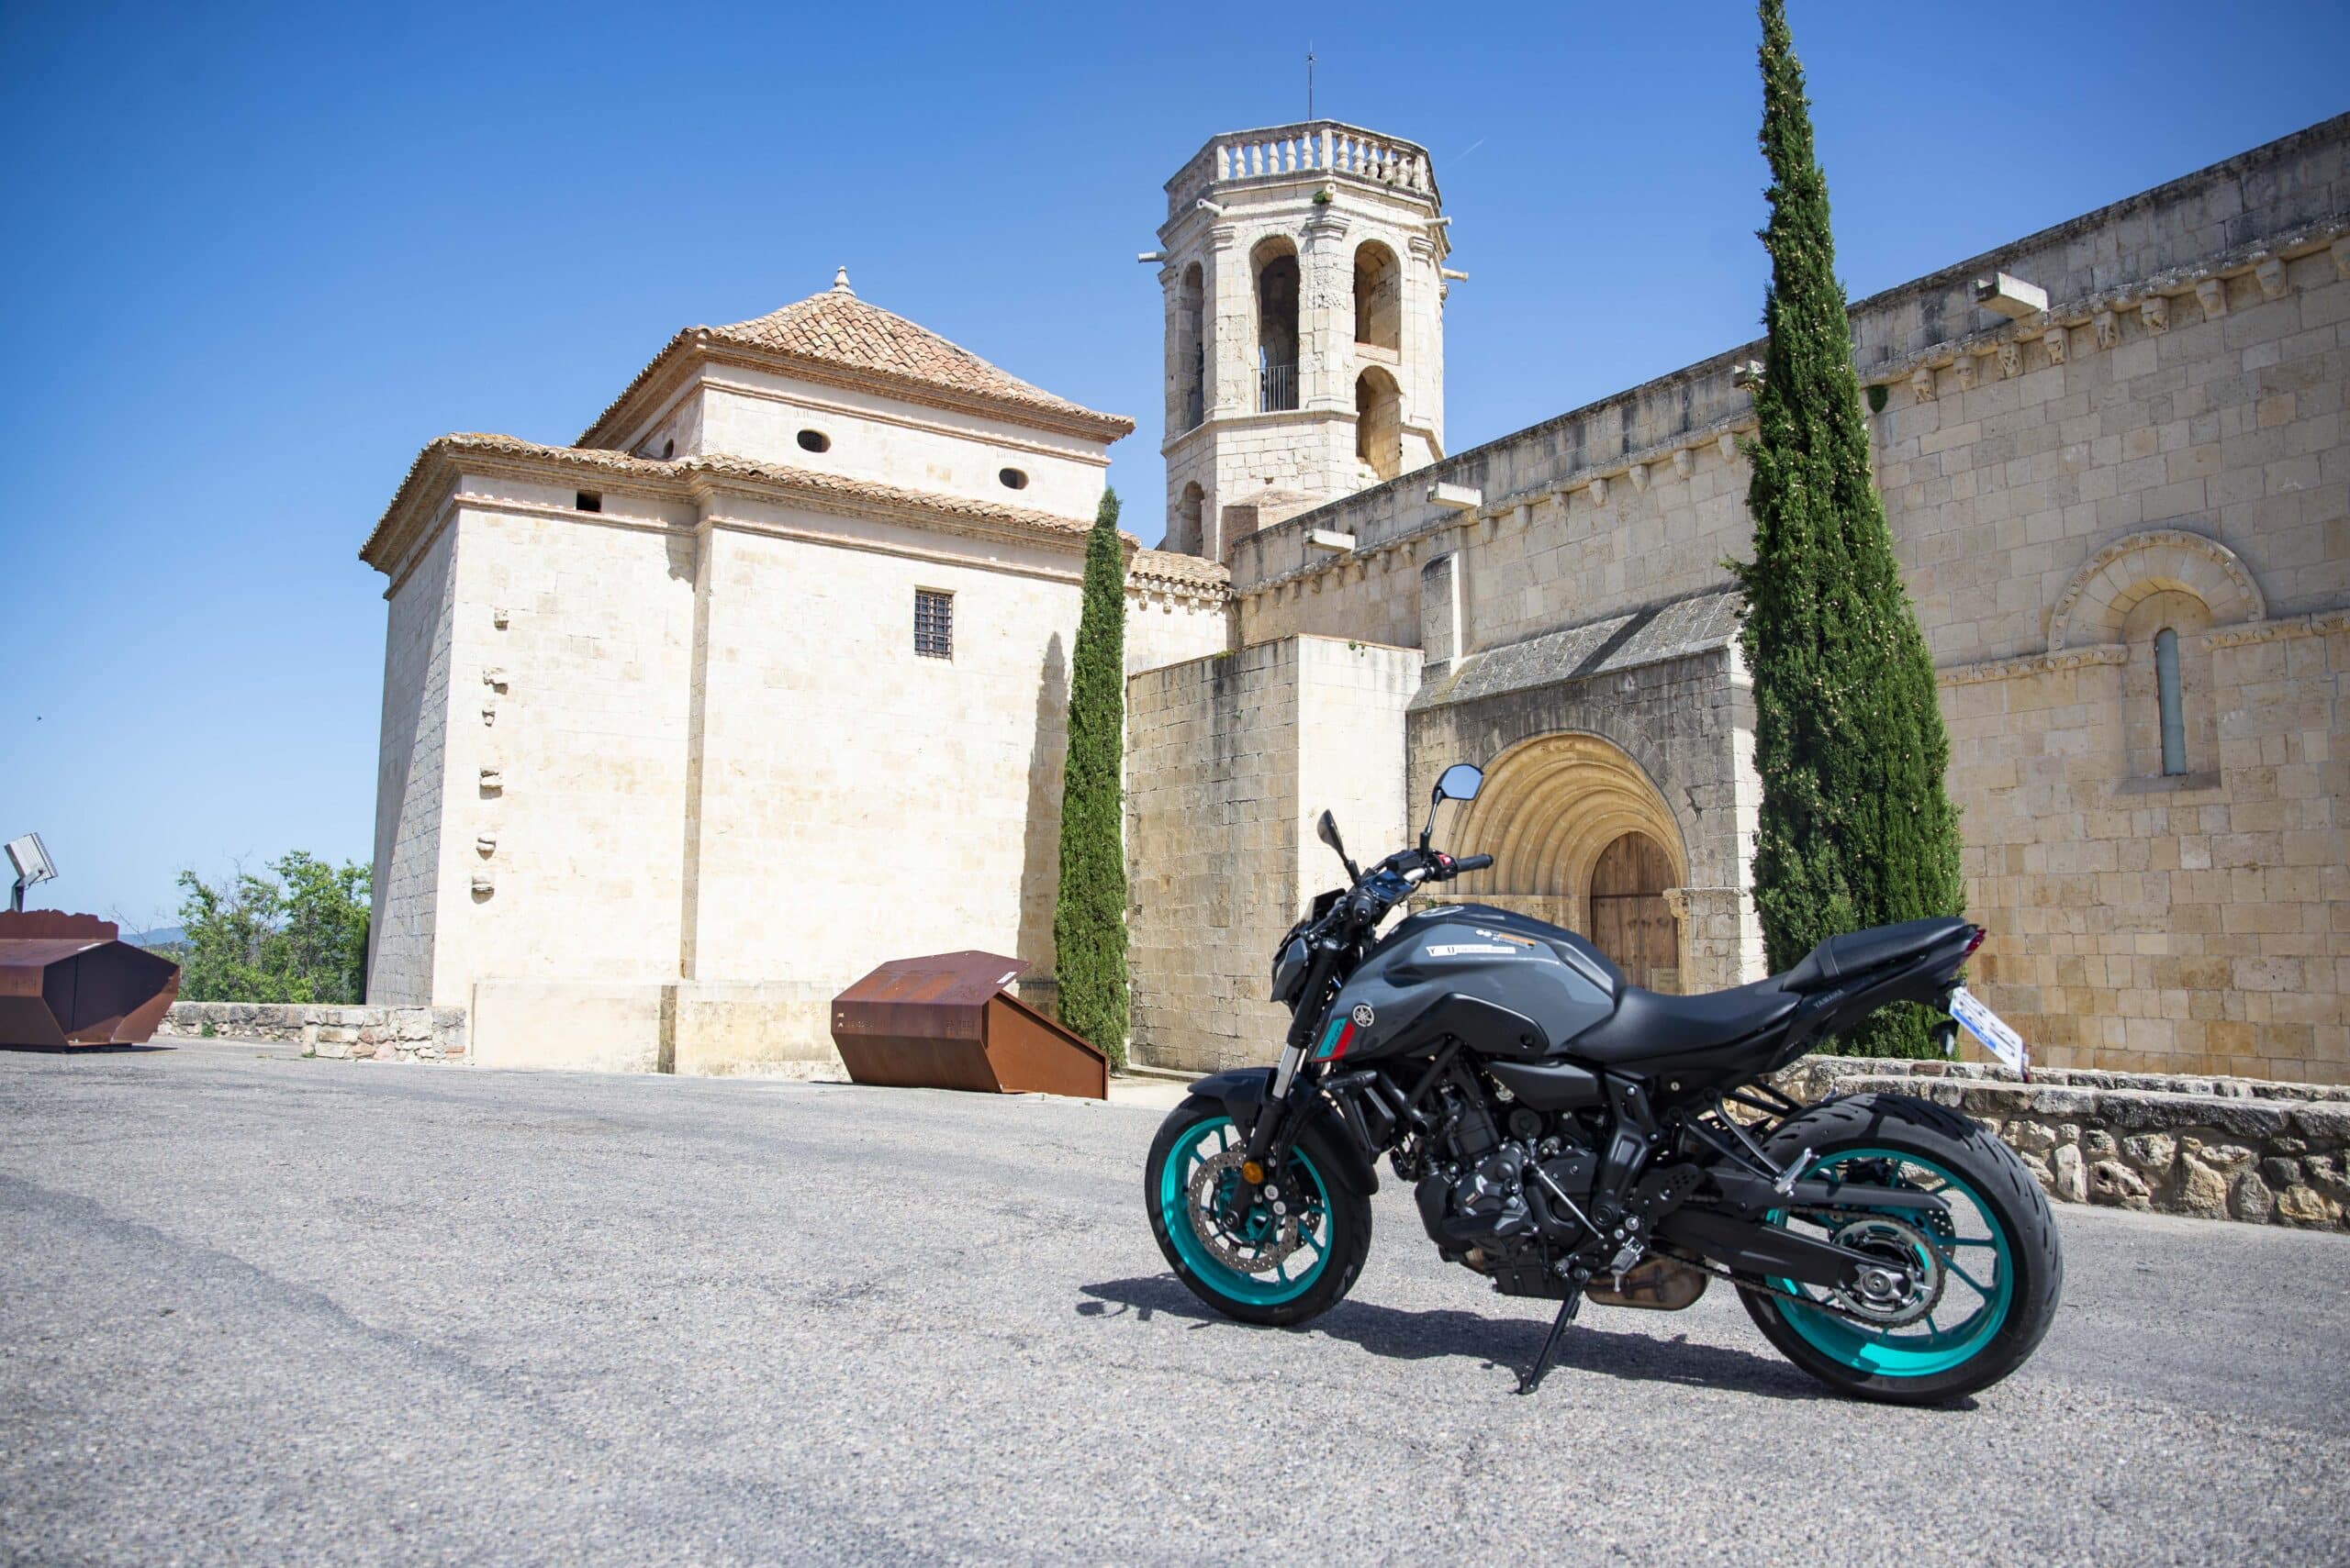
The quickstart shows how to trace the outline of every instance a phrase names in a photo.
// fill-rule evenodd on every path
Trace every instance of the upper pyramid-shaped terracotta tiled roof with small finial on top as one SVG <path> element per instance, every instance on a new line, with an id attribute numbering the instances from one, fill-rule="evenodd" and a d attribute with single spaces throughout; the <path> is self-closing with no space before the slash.
<path id="1" fill-rule="evenodd" d="M 1107 441 L 1116 441 L 1135 430 L 1135 423 L 1126 415 L 1097 413 L 1083 404 L 1072 404 L 1067 397 L 1053 397 L 1043 387 L 1034 387 L 996 369 L 968 347 L 949 343 L 926 326 L 916 326 L 879 305 L 867 305 L 844 279 L 825 293 L 813 293 L 797 305 L 771 310 L 750 322 L 689 326 L 677 333 L 653 364 L 644 366 L 637 380 L 627 385 L 627 392 L 597 415 L 597 423 L 580 439 L 588 441 L 604 432 L 606 420 L 630 401 L 637 387 L 651 380 L 686 345 L 747 350 L 815 369 L 851 371 L 860 378 L 900 387 L 919 387 L 933 394 L 945 392 L 956 401 L 1018 408 L 1074 423 Z"/>

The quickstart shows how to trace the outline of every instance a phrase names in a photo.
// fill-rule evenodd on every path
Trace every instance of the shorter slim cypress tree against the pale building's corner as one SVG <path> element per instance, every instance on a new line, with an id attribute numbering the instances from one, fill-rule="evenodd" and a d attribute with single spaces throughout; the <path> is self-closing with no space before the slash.
<path id="1" fill-rule="evenodd" d="M 1060 1021 L 1126 1066 L 1126 549 L 1119 493 L 1086 535 L 1086 603 L 1069 674 L 1053 951 Z"/>

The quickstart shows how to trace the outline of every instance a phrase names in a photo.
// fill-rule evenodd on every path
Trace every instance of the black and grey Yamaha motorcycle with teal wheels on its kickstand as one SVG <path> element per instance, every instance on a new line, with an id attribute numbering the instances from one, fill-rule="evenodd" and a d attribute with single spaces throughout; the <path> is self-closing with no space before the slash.
<path id="1" fill-rule="evenodd" d="M 1483 904 L 1379 934 L 1424 885 L 1492 864 L 1429 847 L 1436 807 L 1480 784 L 1450 768 L 1419 847 L 1370 871 L 1323 812 L 1351 885 L 1281 939 L 1278 1066 L 1198 1080 L 1152 1141 L 1152 1232 L 1175 1275 L 1248 1324 L 1330 1310 L 1370 1251 L 1384 1153 L 1445 1261 L 1560 1303 L 1518 1392 L 1584 1300 L 1680 1310 L 1716 1277 L 1781 1354 L 1849 1394 L 1929 1404 L 2021 1366 L 2063 1258 L 2014 1150 L 1920 1099 L 1805 1108 L 1767 1084 L 1894 1002 L 1960 1005 L 1974 1028 L 1988 1014 L 1960 965 L 1981 927 L 1852 932 L 1708 995 L 1640 991 L 1574 932 Z"/>

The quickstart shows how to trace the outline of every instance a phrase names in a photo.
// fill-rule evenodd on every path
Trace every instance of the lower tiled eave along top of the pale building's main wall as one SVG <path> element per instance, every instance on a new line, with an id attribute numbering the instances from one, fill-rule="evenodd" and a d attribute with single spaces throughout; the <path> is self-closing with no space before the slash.
<path id="1" fill-rule="evenodd" d="M 985 523 L 994 528 L 1027 530 L 1062 540 L 1083 540 L 1086 530 L 1093 526 L 1083 519 L 1058 516 L 1053 512 L 1036 512 L 1032 507 L 1006 507 L 992 500 L 973 500 L 968 495 L 942 495 L 938 491 L 907 491 L 893 484 L 879 484 L 872 479 L 848 479 L 844 474 L 818 474 L 804 467 L 780 467 L 773 462 L 750 462 L 745 458 L 679 458 L 677 462 L 656 462 L 651 458 L 630 458 L 627 453 L 616 453 L 597 446 L 545 446 L 540 441 L 524 441 L 522 437 L 496 437 L 496 434 L 451 434 L 432 441 L 421 453 L 416 462 L 409 465 L 407 479 L 400 481 L 400 491 L 392 495 L 392 505 L 383 509 L 374 530 L 367 535 L 367 545 L 360 547 L 360 559 L 378 570 L 390 570 L 397 566 L 392 559 L 378 559 L 383 545 L 397 533 L 395 523 L 418 500 L 435 469 L 454 467 L 463 458 L 522 458 L 531 462 L 552 462 L 557 467 L 609 474 L 616 479 L 630 479 L 651 488 L 667 488 L 684 493 L 686 484 L 696 474 L 719 477 L 719 479 L 750 479 L 768 488 L 797 491 L 808 500 L 822 505 L 827 500 L 870 507 L 891 507 L 907 512 L 924 512 L 940 519 Z M 1126 535 L 1130 538 L 1130 535 Z"/>

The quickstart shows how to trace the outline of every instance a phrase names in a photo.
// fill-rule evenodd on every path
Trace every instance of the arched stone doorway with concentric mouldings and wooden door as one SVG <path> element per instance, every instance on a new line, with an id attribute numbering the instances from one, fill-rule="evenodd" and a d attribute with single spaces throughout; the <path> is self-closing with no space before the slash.
<path id="1" fill-rule="evenodd" d="M 1518 742 L 1485 768 L 1485 789 L 1445 840 L 1455 854 L 1492 854 L 1490 871 L 1455 883 L 1462 899 L 1582 932 L 1633 984 L 1680 988 L 1683 934 L 1666 892 L 1687 883 L 1687 847 L 1673 807 L 1614 742 Z"/>

